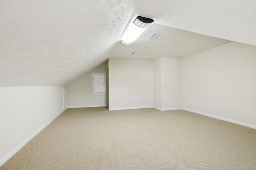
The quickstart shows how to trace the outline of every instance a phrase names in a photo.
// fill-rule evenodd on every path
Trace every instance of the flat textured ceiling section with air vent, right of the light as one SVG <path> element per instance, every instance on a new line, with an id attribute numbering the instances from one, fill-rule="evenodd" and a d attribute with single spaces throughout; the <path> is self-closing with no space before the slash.
<path id="1" fill-rule="evenodd" d="M 154 39 L 148 39 L 154 33 L 159 35 Z M 117 43 L 110 57 L 120 56 L 129 59 L 185 57 L 228 42 L 230 41 L 153 23 L 132 44 Z"/>

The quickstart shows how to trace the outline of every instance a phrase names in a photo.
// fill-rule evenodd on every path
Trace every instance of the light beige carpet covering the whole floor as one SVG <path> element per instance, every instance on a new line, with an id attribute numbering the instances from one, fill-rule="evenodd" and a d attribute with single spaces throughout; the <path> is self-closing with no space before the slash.
<path id="1" fill-rule="evenodd" d="M 67 109 L 0 170 L 256 170 L 256 129 L 184 110 Z"/>

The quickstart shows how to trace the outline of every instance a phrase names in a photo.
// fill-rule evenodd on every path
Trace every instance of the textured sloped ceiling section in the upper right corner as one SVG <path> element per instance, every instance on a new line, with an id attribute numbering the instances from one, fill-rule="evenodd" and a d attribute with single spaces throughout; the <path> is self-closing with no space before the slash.
<path id="1" fill-rule="evenodd" d="M 157 23 L 256 45 L 256 0 L 173 0 Z"/>

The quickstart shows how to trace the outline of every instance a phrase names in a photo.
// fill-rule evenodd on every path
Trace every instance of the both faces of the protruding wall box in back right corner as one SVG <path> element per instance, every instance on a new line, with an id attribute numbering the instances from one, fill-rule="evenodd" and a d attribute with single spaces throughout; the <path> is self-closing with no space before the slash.
<path id="1" fill-rule="evenodd" d="M 159 57 L 154 65 L 154 108 L 181 109 L 181 59 Z"/>

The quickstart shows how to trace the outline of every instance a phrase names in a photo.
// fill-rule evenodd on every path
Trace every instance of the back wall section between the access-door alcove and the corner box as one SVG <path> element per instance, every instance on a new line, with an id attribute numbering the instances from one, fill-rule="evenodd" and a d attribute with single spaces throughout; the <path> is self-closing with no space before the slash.
<path id="1" fill-rule="evenodd" d="M 108 71 L 110 110 L 153 107 L 152 60 L 110 58 Z"/>

